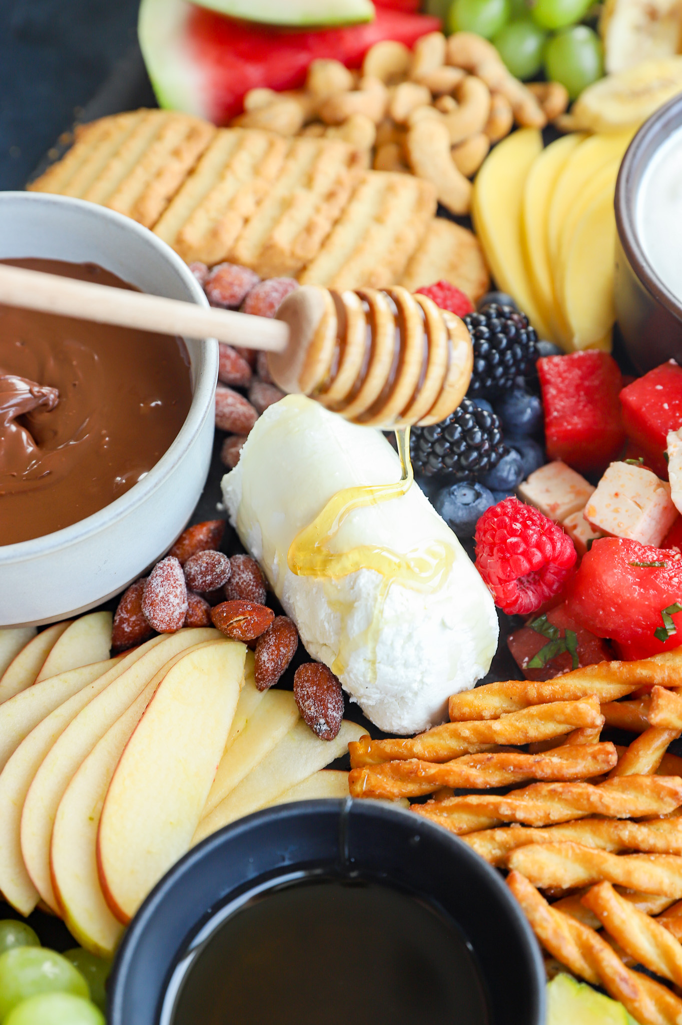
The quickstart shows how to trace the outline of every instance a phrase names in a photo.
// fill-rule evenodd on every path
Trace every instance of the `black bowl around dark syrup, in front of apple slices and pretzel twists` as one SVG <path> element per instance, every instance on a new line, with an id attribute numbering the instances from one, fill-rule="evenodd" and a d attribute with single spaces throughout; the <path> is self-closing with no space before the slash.
<path id="1" fill-rule="evenodd" d="M 178 862 L 139 909 L 117 954 L 110 1025 L 157 1025 L 176 966 L 221 907 L 268 880 L 311 871 L 360 875 L 439 907 L 470 944 L 491 1025 L 544 1025 L 540 948 L 502 875 L 427 819 L 350 798 L 266 809 L 209 836 Z"/>

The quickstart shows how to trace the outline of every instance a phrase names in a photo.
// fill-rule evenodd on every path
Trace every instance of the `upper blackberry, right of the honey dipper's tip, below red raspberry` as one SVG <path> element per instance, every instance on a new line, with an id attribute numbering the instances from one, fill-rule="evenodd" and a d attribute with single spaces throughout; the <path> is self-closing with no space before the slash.
<path id="1" fill-rule="evenodd" d="M 478 313 L 467 314 L 464 323 L 474 346 L 470 398 L 499 394 L 535 367 L 537 335 L 518 310 L 489 302 Z"/>

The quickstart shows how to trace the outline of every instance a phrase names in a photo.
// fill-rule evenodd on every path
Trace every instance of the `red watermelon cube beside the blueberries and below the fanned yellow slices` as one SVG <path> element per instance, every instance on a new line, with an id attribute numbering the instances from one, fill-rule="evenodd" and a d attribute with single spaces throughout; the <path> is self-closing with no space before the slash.
<path id="1" fill-rule="evenodd" d="M 573 469 L 604 469 L 625 442 L 619 395 L 621 370 L 608 353 L 583 352 L 538 360 L 550 459 Z"/>

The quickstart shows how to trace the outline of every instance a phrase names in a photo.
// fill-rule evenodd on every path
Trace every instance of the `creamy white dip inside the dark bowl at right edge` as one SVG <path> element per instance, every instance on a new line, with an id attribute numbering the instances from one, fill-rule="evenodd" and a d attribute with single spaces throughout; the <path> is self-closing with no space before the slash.
<path id="1" fill-rule="evenodd" d="M 644 171 L 636 228 L 653 271 L 682 300 L 682 128 L 666 139 Z"/>

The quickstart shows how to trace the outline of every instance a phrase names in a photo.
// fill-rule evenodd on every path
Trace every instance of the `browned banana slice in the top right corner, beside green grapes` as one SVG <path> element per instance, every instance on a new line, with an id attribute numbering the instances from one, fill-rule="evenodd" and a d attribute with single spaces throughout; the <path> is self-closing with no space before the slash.
<path id="1" fill-rule="evenodd" d="M 599 22 L 606 72 L 680 52 L 680 0 L 606 0 Z"/>

